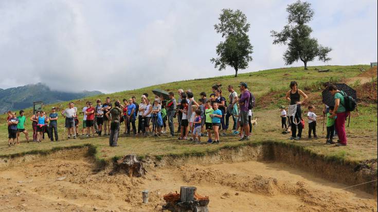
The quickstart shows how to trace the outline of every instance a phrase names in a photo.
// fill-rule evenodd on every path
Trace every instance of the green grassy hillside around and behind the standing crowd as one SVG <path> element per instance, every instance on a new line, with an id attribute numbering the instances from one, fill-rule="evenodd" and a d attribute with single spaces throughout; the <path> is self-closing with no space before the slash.
<path id="1" fill-rule="evenodd" d="M 90 99 L 83 99 L 74 101 L 78 108 L 83 106 L 83 102 L 89 100 L 94 101 L 97 98 L 104 99 L 106 96 L 112 99 L 123 99 L 130 98 L 131 95 L 139 97 L 143 92 L 148 92 L 152 95 L 151 90 L 154 88 L 160 88 L 165 90 L 172 90 L 176 92 L 178 88 L 192 89 L 195 97 L 199 97 L 201 91 L 210 92 L 211 86 L 215 83 L 220 83 L 223 85 L 223 89 L 226 91 L 226 86 L 228 84 L 237 86 L 239 82 L 247 82 L 251 87 L 251 90 L 258 98 L 261 100 L 262 104 L 258 105 L 255 115 L 258 115 L 259 126 L 254 131 L 253 142 L 261 142 L 266 140 L 274 140 L 279 142 L 289 142 L 286 135 L 282 135 L 280 129 L 280 120 L 277 105 L 287 104 L 284 100 L 284 91 L 288 90 L 288 84 L 290 81 L 295 80 L 299 82 L 299 88 L 306 88 L 310 95 L 311 104 L 319 105 L 317 108 L 317 114 L 320 114 L 321 104 L 320 100 L 320 85 L 322 82 L 326 81 L 339 81 L 343 78 L 351 78 L 359 73 L 359 68 L 368 69 L 367 65 L 355 65 L 355 66 L 318 66 L 309 67 L 309 70 L 304 71 L 302 67 L 294 68 L 281 68 L 281 69 L 271 69 L 258 72 L 244 73 L 240 74 L 238 78 L 233 78 L 233 76 L 221 76 L 218 78 L 209 79 L 199 79 L 190 80 L 182 82 L 173 82 L 162 85 L 155 85 L 146 88 L 141 88 L 137 90 L 122 91 L 112 94 L 99 95 L 97 97 L 91 97 Z M 330 72 L 318 73 L 314 69 L 331 69 Z M 226 91 L 227 93 L 227 91 Z M 273 95 L 271 101 L 264 101 L 267 97 L 266 95 Z M 259 101 L 258 103 L 259 104 Z M 66 103 L 56 104 L 53 106 L 65 107 Z M 52 105 L 48 105 L 45 108 L 50 108 Z M 295 144 L 304 146 L 305 148 L 319 153 L 321 155 L 329 157 L 338 157 L 347 160 L 365 160 L 371 158 L 377 158 L 377 120 L 376 120 L 376 104 L 365 105 L 359 107 L 358 115 L 353 117 L 351 120 L 351 127 L 347 129 L 350 135 L 349 146 L 343 148 L 329 147 L 323 145 L 323 139 L 311 140 L 311 141 L 301 141 Z M 26 110 L 27 117 L 31 115 L 31 109 Z M 357 112 L 355 113 L 357 114 Z M 113 156 L 122 156 L 127 153 L 137 153 L 138 155 L 167 155 L 182 154 L 182 153 L 195 153 L 195 152 L 207 152 L 217 150 L 222 146 L 228 145 L 240 145 L 241 143 L 234 137 L 227 137 L 222 139 L 221 145 L 192 145 L 189 142 L 179 142 L 176 139 L 168 138 L 125 138 L 121 137 L 119 139 L 119 147 L 110 148 L 108 147 L 109 142 L 107 138 L 93 138 L 93 139 L 78 139 L 62 141 L 60 143 L 43 142 L 41 144 L 21 144 L 16 147 L 7 147 L 7 129 L 5 126 L 5 116 L 0 117 L 0 155 L 9 155 L 12 153 L 20 153 L 31 150 L 48 150 L 53 147 L 64 147 L 70 145 L 80 145 L 91 143 L 98 147 L 97 157 L 98 158 L 112 158 Z M 60 132 L 63 131 L 63 119 L 59 120 Z M 318 134 L 321 135 L 321 118 L 319 118 L 319 124 L 317 127 Z M 27 129 L 30 129 L 30 122 L 27 123 Z M 80 127 L 81 128 L 81 127 Z M 30 130 L 29 130 L 30 131 Z M 121 130 L 123 132 L 123 130 Z M 60 133 L 61 136 L 62 133 Z M 307 134 L 307 126 L 303 131 L 303 137 Z M 23 141 L 24 139 L 22 139 Z"/>

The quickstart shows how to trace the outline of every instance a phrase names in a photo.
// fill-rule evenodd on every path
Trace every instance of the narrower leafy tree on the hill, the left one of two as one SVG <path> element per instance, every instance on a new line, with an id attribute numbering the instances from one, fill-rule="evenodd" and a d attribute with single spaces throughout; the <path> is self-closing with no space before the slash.
<path id="1" fill-rule="evenodd" d="M 238 70 L 246 69 L 248 63 L 252 61 L 250 54 L 253 52 L 253 46 L 247 35 L 249 31 L 247 17 L 240 10 L 223 9 L 219 21 L 219 24 L 214 25 L 214 29 L 225 37 L 225 41 L 220 42 L 215 50 L 218 57 L 210 61 L 215 64 L 214 68 L 219 67 L 220 71 L 227 65 L 233 67 L 237 77 Z"/>

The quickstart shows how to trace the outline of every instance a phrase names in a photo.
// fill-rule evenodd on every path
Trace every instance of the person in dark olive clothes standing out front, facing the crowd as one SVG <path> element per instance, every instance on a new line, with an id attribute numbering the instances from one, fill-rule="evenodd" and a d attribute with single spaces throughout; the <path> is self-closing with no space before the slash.
<path id="1" fill-rule="evenodd" d="M 111 120 L 109 145 L 112 147 L 118 146 L 119 121 L 122 117 L 122 109 L 120 108 L 119 102 L 115 102 L 114 105 L 115 107 L 105 114 L 106 118 Z M 111 115 L 111 117 L 109 115 Z"/>

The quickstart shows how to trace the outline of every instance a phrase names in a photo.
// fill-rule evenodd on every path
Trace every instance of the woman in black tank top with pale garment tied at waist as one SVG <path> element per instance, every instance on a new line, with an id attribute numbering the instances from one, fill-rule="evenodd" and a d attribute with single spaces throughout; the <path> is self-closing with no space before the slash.
<path id="1" fill-rule="evenodd" d="M 298 88 L 298 83 L 292 81 L 290 83 L 290 90 L 286 92 L 286 99 L 290 101 L 289 105 L 289 115 L 292 127 L 292 136 L 289 138 L 290 140 L 300 140 L 302 137 L 302 111 L 300 109 L 300 105 L 308 98 L 307 95 Z M 304 99 L 301 102 L 300 96 Z M 297 134 L 297 126 L 298 126 L 298 134 Z"/>

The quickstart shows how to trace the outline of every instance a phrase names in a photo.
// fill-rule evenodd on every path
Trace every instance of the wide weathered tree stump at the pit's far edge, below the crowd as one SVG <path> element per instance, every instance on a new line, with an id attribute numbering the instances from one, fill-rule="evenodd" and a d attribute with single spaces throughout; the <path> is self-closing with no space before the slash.
<path id="1" fill-rule="evenodd" d="M 137 160 L 136 155 L 123 156 L 123 158 L 117 161 L 115 170 L 109 174 L 113 175 L 120 170 L 124 170 L 129 177 L 142 177 L 147 172 L 145 167 L 143 167 L 143 163 Z"/>

